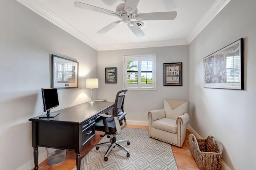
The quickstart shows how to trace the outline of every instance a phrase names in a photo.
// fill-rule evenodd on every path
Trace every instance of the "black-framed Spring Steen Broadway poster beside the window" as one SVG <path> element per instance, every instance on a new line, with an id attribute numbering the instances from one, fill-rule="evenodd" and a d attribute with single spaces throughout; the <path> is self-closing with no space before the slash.
<path id="1" fill-rule="evenodd" d="M 182 63 L 164 63 L 164 86 L 182 86 Z"/>

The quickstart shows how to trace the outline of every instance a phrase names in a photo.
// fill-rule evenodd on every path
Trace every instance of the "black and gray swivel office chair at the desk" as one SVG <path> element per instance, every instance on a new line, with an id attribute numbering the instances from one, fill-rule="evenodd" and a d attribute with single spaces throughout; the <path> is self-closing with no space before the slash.
<path id="1" fill-rule="evenodd" d="M 95 123 L 96 131 L 105 132 L 105 134 L 101 135 L 101 137 L 107 135 L 107 137 L 110 138 L 110 142 L 100 143 L 96 145 L 97 150 L 101 145 L 110 145 L 106 154 L 104 155 L 105 161 L 108 160 L 107 156 L 115 146 L 125 150 L 127 152 L 126 156 L 130 156 L 129 150 L 119 144 L 121 142 L 127 142 L 127 145 L 130 145 L 130 142 L 128 140 L 116 141 L 116 135 L 121 134 L 121 130 L 124 129 L 127 125 L 125 119 L 126 112 L 124 112 L 124 97 L 126 92 L 127 89 L 117 92 L 116 100 L 114 103 L 113 115 L 99 114 L 100 118 L 98 118 Z M 124 125 L 122 125 L 123 122 Z"/>

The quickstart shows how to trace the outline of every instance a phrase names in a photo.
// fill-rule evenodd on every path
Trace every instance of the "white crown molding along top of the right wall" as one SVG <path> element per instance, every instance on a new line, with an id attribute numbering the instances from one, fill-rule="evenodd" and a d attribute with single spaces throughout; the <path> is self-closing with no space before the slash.
<path id="1" fill-rule="evenodd" d="M 196 36 L 212 21 L 218 13 L 230 2 L 230 0 L 216 0 L 204 17 L 199 21 L 196 27 L 188 36 L 188 43 L 190 44 Z"/>

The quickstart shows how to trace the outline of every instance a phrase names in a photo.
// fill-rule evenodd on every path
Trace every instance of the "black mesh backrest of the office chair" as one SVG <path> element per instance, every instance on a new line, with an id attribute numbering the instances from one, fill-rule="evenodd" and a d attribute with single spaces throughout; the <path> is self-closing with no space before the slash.
<path id="1" fill-rule="evenodd" d="M 116 100 L 114 103 L 113 116 L 117 117 L 120 111 L 124 111 L 124 97 L 128 89 L 120 90 L 116 93 Z"/>

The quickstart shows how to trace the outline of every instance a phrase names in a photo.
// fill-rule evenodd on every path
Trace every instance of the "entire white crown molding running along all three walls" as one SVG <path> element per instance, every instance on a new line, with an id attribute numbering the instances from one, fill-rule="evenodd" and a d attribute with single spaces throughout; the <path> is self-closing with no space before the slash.
<path id="1" fill-rule="evenodd" d="M 64 21 L 62 18 L 54 14 L 51 10 L 46 8 L 37 0 L 16 0 L 20 4 L 26 6 L 36 14 L 42 16 L 46 20 L 50 21 L 54 25 L 60 27 L 67 33 L 73 35 L 80 41 L 86 43 L 90 47 L 96 49 L 97 51 L 106 50 L 118 50 L 118 49 L 138 49 L 138 48 L 151 48 L 151 47 L 166 47 L 175 45 L 188 45 L 193 41 L 194 38 L 212 21 L 212 19 L 217 16 L 217 14 L 230 2 L 230 0 L 216 0 L 207 14 L 200 20 L 198 25 L 193 29 L 187 39 L 176 39 L 167 41 L 154 41 L 154 42 L 144 42 L 144 43 L 130 43 L 120 44 L 120 45 L 98 45 L 92 39 L 84 35 L 82 32 L 78 31 L 75 27 Z"/>

